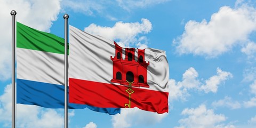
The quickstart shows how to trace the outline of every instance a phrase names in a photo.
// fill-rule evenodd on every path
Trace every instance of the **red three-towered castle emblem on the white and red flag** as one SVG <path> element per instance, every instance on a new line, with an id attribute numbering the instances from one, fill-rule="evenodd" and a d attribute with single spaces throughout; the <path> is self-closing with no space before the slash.
<path id="1" fill-rule="evenodd" d="M 149 87 L 147 81 L 147 67 L 149 62 L 145 61 L 145 49 L 138 49 L 138 59 L 135 60 L 135 49 L 125 48 L 125 59 L 122 58 L 123 49 L 115 44 L 115 57 L 110 59 L 113 61 L 113 79 L 110 82 L 119 83 L 121 85 L 129 85 L 136 87 Z M 129 83 L 128 83 L 128 82 Z"/>

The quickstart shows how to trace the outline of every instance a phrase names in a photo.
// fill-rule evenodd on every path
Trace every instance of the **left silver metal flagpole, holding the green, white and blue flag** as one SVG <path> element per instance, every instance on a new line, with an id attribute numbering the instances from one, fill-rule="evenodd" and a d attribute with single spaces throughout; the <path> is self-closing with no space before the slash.
<path id="1" fill-rule="evenodd" d="M 15 89 L 15 15 L 16 11 L 12 10 L 12 128 L 15 128 L 15 106 L 16 106 L 16 89 Z"/>

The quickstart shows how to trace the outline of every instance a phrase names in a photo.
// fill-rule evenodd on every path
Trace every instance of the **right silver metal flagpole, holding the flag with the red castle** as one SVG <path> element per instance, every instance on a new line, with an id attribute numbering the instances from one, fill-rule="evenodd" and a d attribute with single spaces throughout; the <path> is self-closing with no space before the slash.
<path id="1" fill-rule="evenodd" d="M 68 14 L 65 19 L 65 128 L 68 128 Z"/>

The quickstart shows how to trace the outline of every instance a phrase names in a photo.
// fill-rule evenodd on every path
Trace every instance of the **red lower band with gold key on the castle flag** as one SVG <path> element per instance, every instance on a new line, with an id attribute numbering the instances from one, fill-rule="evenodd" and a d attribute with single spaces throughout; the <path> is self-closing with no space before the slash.
<path id="1" fill-rule="evenodd" d="M 168 113 L 168 92 L 75 78 L 69 78 L 69 92 L 73 92 L 69 94 L 70 103 L 102 108 L 138 107 L 159 114 Z"/>

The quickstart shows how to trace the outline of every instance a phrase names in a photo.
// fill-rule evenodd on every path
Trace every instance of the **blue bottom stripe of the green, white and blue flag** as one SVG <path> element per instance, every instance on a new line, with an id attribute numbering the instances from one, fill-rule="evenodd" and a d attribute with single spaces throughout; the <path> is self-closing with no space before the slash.
<path id="1" fill-rule="evenodd" d="M 17 103 L 45 108 L 64 108 L 64 87 L 63 85 L 17 79 Z M 120 108 L 98 108 L 76 103 L 69 103 L 68 108 L 89 108 L 110 115 L 120 113 Z"/>

